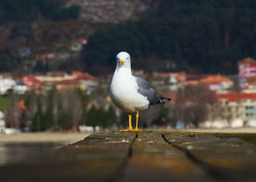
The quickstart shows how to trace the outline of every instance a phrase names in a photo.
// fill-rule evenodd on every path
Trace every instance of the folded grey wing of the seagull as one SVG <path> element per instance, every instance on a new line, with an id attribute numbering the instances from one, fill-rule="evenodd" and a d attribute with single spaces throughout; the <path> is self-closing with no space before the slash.
<path id="1" fill-rule="evenodd" d="M 158 97 L 157 93 L 154 91 L 154 89 L 151 87 L 150 84 L 146 81 L 146 79 L 143 79 L 139 76 L 135 76 L 136 82 L 138 84 L 138 92 L 147 97 L 149 100 L 150 105 L 154 105 L 157 103 L 162 103 L 162 100 Z"/>

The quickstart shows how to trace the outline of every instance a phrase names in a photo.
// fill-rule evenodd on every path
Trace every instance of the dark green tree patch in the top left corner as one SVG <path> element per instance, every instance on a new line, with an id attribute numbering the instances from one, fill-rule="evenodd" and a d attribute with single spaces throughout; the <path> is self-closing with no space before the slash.
<path id="1" fill-rule="evenodd" d="M 1 0 L 0 25 L 9 22 L 32 22 L 34 20 L 77 19 L 80 13 L 78 5 L 61 7 L 61 0 Z"/>

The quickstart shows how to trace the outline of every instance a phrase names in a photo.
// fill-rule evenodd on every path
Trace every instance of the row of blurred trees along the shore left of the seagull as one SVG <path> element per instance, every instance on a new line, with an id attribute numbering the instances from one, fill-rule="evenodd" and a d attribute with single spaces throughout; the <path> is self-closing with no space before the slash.
<path id="1" fill-rule="evenodd" d="M 31 130 L 74 129 L 85 124 L 88 96 L 79 89 L 31 90 L 25 95 L 11 93 L 8 104 L 3 105 L 5 122 L 9 127 Z M 25 107 L 20 107 L 23 100 Z M 1 104 L 1 98 L 0 98 Z M 1 106 L 1 105 L 0 105 Z"/>

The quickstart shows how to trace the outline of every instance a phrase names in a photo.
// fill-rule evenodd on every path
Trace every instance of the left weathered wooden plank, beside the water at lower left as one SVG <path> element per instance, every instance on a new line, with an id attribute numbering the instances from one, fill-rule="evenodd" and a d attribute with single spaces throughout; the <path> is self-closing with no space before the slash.
<path id="1" fill-rule="evenodd" d="M 0 167 L 1 181 L 113 181 L 127 162 L 135 133 L 90 135 L 37 159 Z"/>

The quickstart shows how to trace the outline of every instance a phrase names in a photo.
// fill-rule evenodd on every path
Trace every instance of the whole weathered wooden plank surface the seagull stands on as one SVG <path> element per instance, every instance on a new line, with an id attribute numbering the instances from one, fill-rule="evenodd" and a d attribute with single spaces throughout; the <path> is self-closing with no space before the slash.
<path id="1" fill-rule="evenodd" d="M 0 181 L 255 181 L 256 134 L 108 132 L 0 167 Z"/>

